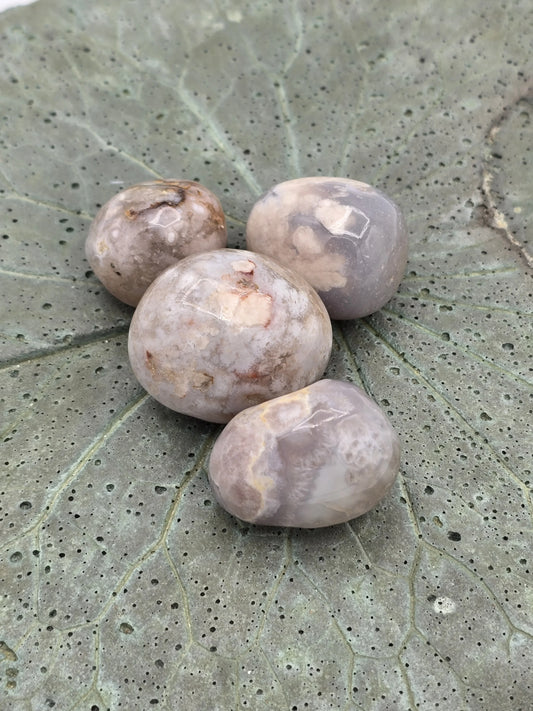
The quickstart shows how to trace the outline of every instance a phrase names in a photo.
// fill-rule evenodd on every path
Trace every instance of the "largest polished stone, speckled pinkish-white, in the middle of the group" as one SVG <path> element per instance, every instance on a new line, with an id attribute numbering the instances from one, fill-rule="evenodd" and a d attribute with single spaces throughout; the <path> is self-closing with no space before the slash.
<path id="1" fill-rule="evenodd" d="M 317 293 L 269 257 L 187 257 L 149 287 L 131 322 L 135 375 L 167 407 L 211 422 L 320 378 L 332 345 Z"/>

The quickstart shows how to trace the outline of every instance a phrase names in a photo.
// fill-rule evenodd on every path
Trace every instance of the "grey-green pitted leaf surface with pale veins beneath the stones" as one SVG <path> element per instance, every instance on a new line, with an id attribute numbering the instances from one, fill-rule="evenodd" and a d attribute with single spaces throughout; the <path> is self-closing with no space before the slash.
<path id="1" fill-rule="evenodd" d="M 0 685 L 6 708 L 531 708 L 528 0 L 39 0 L 0 16 Z M 263 191 L 369 182 L 408 270 L 329 375 L 403 442 L 373 511 L 245 526 L 219 428 L 134 380 L 89 271 L 98 207 L 199 180 L 230 245 Z M 529 221 L 529 225 L 528 225 Z"/>

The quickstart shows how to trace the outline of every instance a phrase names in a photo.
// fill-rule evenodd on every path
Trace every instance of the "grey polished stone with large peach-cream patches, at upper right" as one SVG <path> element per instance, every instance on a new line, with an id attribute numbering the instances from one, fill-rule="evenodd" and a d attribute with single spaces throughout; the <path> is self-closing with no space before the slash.
<path id="1" fill-rule="evenodd" d="M 380 309 L 407 262 L 398 207 L 379 190 L 347 178 L 276 185 L 250 213 L 246 246 L 304 276 L 334 319 Z"/>

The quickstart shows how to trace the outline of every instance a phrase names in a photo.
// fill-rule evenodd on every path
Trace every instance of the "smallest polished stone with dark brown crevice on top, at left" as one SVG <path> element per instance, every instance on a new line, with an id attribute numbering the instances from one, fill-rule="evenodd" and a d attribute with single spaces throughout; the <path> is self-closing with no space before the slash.
<path id="1" fill-rule="evenodd" d="M 123 190 L 100 209 L 85 253 L 106 289 L 137 306 L 164 269 L 226 242 L 226 220 L 212 192 L 191 180 L 156 180 Z"/>

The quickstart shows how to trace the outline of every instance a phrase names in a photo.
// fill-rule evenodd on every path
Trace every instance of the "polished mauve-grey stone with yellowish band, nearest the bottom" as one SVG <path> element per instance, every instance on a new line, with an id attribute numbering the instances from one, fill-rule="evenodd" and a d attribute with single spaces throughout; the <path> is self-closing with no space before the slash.
<path id="1" fill-rule="evenodd" d="M 359 388 L 320 380 L 239 413 L 215 442 L 209 478 L 244 521 L 316 528 L 360 516 L 399 469 L 398 437 Z"/>

